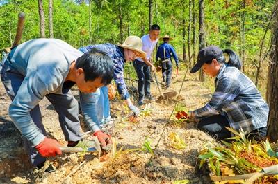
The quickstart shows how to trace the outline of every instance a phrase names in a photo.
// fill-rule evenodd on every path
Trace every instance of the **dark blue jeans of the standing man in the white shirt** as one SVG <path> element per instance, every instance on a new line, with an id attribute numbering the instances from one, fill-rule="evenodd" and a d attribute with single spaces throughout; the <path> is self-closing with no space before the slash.
<path id="1" fill-rule="evenodd" d="M 138 60 L 133 62 L 133 66 L 138 77 L 138 97 L 139 100 L 142 100 L 145 95 L 151 95 L 151 67 L 147 66 L 145 62 L 140 62 Z"/>

